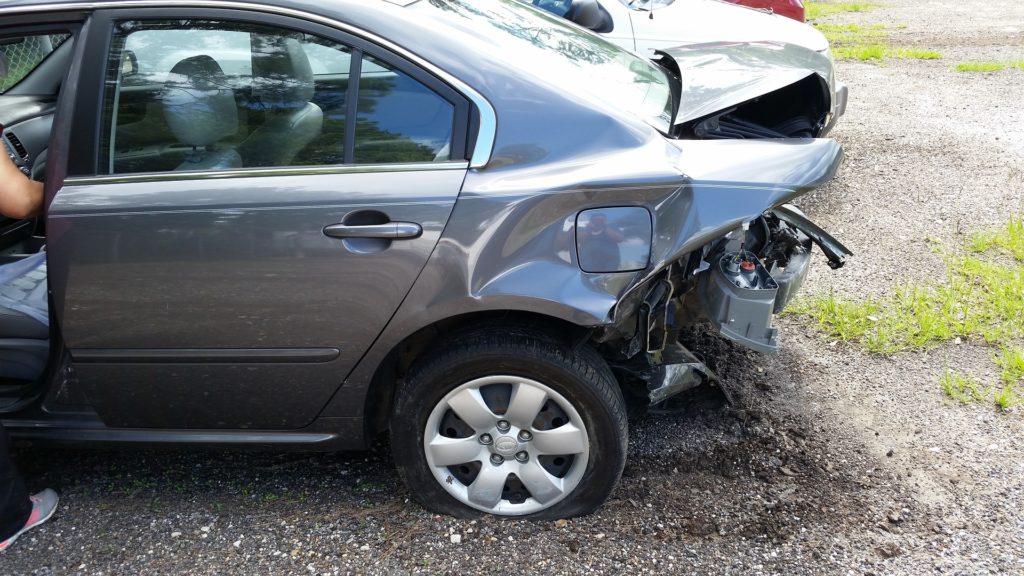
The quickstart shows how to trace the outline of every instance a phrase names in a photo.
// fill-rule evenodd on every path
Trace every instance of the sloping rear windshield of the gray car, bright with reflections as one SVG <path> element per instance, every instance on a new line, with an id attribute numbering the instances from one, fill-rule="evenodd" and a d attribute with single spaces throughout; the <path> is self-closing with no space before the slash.
<path id="1" fill-rule="evenodd" d="M 668 74 L 596 34 L 517 0 L 425 0 L 413 6 L 441 11 L 467 37 L 484 35 L 487 47 L 510 68 L 669 131 L 673 101 Z"/>

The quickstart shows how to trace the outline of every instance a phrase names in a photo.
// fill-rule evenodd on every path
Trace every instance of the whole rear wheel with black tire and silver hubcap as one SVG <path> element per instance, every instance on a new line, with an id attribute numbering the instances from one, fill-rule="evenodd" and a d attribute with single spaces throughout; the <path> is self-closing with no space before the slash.
<path id="1" fill-rule="evenodd" d="M 396 467 L 425 507 L 539 519 L 593 511 L 626 461 L 622 392 L 588 346 L 471 333 L 414 366 L 391 418 Z"/>

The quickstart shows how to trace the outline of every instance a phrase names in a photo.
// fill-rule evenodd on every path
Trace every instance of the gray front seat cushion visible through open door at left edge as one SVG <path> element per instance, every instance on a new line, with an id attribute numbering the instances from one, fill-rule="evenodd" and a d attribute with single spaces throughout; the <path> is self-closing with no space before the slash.
<path id="1" fill-rule="evenodd" d="M 49 337 L 46 254 L 0 265 L 0 382 L 39 378 Z"/>

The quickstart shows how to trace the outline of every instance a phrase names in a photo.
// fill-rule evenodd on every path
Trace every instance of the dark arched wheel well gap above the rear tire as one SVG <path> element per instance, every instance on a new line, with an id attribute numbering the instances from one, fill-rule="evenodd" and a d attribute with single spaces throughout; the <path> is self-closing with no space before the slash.
<path id="1" fill-rule="evenodd" d="M 473 313 L 430 324 L 398 342 L 374 373 L 367 393 L 366 414 L 367 439 L 373 441 L 385 431 L 394 390 L 399 379 L 406 377 L 418 358 L 435 346 L 443 345 L 460 334 L 485 328 L 530 328 L 544 330 L 565 341 L 570 347 L 582 345 L 590 339 L 592 330 L 558 318 L 528 312 L 499 311 Z"/>

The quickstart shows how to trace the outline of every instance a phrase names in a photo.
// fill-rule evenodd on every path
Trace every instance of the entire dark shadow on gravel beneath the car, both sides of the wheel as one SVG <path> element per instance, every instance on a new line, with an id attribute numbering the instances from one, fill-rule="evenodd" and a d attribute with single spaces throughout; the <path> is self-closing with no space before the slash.
<path id="1" fill-rule="evenodd" d="M 830 542 L 809 541 L 803 529 L 833 534 L 878 523 L 872 480 L 858 471 L 865 465 L 854 464 L 850 446 L 833 444 L 803 405 L 804 376 L 794 368 L 800 358 L 757 355 L 699 331 L 686 343 L 708 359 L 733 404 L 706 388 L 670 413 L 634 419 L 630 457 L 608 503 L 567 526 L 546 523 L 537 538 L 557 537 L 545 541 L 581 560 L 624 545 L 728 556 L 731 547 L 795 538 L 827 549 Z M 84 548 L 98 565 L 154 538 L 171 538 L 170 549 L 184 551 L 186 540 L 204 541 L 201 527 L 214 526 L 261 535 L 258 550 L 281 541 L 337 542 L 342 551 L 368 542 L 382 559 L 408 566 L 406 557 L 436 545 L 445 525 L 465 525 L 412 502 L 383 445 L 359 454 L 33 449 L 15 460 L 32 488 L 60 492 L 65 505 L 52 530 L 98 538 Z M 123 534 L 126 523 L 138 534 L 103 537 Z M 521 525 L 481 519 L 476 533 L 518 541 Z M 602 540 L 605 533 L 611 539 Z M 47 545 L 59 549 L 55 538 Z M 553 552 L 545 544 L 538 553 Z"/>

